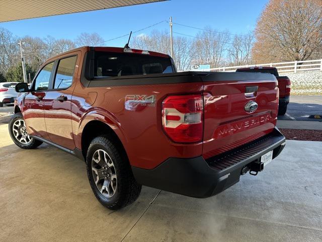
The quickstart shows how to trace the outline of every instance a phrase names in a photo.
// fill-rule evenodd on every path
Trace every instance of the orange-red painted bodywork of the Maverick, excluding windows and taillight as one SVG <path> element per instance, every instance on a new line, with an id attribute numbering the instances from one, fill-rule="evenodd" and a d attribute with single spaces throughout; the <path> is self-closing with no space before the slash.
<path id="1" fill-rule="evenodd" d="M 123 52 L 122 48 L 94 49 Z M 203 156 L 207 159 L 269 134 L 276 125 L 278 88 L 275 78 L 260 81 L 228 78 L 220 81 L 215 73 L 175 73 L 146 75 L 137 80 L 151 80 L 150 84 L 124 84 L 133 82 L 133 77 L 128 76 L 116 78 L 120 85 L 117 82 L 109 85 L 105 80 L 106 85 L 95 86 L 103 81 L 94 80 L 85 86 L 82 83 L 85 78 L 83 65 L 89 51 L 90 47 L 78 48 L 55 56 L 43 65 L 77 55 L 70 87 L 19 95 L 16 105 L 24 115 L 29 134 L 68 150 L 82 150 L 82 134 L 86 125 L 99 120 L 115 132 L 131 166 L 153 169 L 171 157 Z M 151 51 L 150 55 L 169 58 Z M 258 88 L 254 97 L 246 97 L 248 86 Z M 204 97 L 203 140 L 190 144 L 173 142 L 163 130 L 162 102 L 169 95 L 196 93 Z M 41 100 L 36 101 L 39 95 Z M 129 104 L 126 99 L 131 100 L 131 95 L 139 98 L 152 96 L 155 102 L 153 105 Z M 66 100 L 58 101 L 59 97 Z M 245 104 L 251 100 L 258 103 L 258 109 L 252 114 L 245 112 Z"/>

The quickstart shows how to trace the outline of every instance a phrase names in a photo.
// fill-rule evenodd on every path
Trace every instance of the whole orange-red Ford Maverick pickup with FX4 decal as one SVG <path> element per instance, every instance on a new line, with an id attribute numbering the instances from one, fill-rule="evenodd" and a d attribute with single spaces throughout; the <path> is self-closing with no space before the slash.
<path id="1" fill-rule="evenodd" d="M 262 171 L 285 145 L 270 74 L 177 73 L 166 54 L 87 46 L 48 59 L 16 91 L 13 141 L 85 160 L 110 209 L 134 202 L 142 185 L 213 196 Z"/>

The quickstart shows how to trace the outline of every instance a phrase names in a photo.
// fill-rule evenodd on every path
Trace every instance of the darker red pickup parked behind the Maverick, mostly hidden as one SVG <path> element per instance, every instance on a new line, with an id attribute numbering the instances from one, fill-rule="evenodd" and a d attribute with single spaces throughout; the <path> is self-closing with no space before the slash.
<path id="1" fill-rule="evenodd" d="M 291 80 L 286 76 L 279 76 L 275 67 L 248 67 L 239 68 L 236 72 L 257 72 L 257 73 L 270 73 L 273 74 L 278 81 L 279 89 L 279 105 L 278 115 L 284 115 L 287 110 L 287 105 L 290 102 L 291 93 Z"/>

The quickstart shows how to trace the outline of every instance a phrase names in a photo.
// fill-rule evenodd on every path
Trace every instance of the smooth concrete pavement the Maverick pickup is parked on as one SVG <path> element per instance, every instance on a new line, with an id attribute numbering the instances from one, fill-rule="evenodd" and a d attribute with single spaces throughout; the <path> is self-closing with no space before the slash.
<path id="1" fill-rule="evenodd" d="M 257 176 L 208 199 L 143 187 L 111 211 L 84 162 L 48 145 L 23 150 L 0 125 L 0 241 L 321 241 L 322 142 L 287 141 Z M 167 174 L 165 174 L 167 175 Z"/>

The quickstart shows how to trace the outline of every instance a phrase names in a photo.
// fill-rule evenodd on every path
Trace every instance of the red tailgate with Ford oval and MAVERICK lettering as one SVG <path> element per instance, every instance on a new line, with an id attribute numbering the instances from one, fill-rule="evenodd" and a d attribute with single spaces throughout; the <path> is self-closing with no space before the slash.
<path id="1" fill-rule="evenodd" d="M 273 131 L 278 88 L 274 75 L 209 73 L 204 83 L 203 157 L 208 159 Z M 255 103 L 254 103 L 255 102 Z M 252 104 L 256 110 L 248 110 Z"/>

